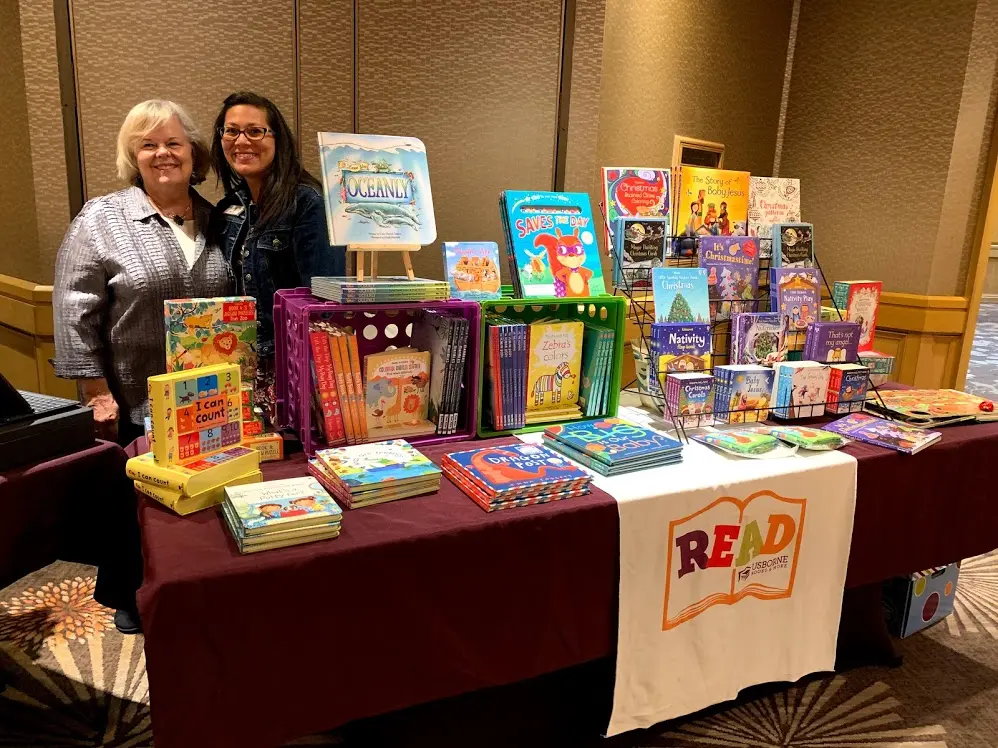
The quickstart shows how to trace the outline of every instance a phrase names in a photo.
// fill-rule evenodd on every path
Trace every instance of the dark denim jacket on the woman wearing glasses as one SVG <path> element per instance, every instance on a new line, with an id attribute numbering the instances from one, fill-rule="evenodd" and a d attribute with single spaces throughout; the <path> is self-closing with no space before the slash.
<path id="1" fill-rule="evenodd" d="M 257 206 L 242 187 L 215 206 L 212 219 L 226 261 L 236 274 L 236 293 L 256 298 L 257 353 L 274 354 L 274 292 L 309 286 L 313 275 L 344 275 L 346 251 L 329 244 L 322 196 L 298 185 L 292 210 L 262 231 Z"/>

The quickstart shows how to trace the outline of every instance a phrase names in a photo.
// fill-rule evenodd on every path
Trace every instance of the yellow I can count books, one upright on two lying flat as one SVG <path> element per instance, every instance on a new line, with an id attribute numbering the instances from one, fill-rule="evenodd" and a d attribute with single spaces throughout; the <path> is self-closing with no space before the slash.
<path id="1" fill-rule="evenodd" d="M 237 364 L 149 377 L 149 403 L 150 451 L 126 465 L 139 492 L 184 515 L 263 479 L 260 452 L 242 445 Z"/>

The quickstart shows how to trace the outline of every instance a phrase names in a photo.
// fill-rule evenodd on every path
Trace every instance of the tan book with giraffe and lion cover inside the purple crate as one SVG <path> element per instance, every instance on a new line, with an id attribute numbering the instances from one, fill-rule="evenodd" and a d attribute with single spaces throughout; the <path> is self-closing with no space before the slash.
<path id="1" fill-rule="evenodd" d="M 427 419 L 430 357 L 429 351 L 414 348 L 364 357 L 364 415 L 371 441 L 436 431 Z"/>

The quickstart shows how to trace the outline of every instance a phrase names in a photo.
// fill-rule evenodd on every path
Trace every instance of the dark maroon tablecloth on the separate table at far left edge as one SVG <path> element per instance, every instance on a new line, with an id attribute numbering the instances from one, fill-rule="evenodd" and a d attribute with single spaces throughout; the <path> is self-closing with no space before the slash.
<path id="1" fill-rule="evenodd" d="M 132 490 L 110 442 L 0 473 L 0 588 L 56 559 L 97 563 L 95 508 Z"/>

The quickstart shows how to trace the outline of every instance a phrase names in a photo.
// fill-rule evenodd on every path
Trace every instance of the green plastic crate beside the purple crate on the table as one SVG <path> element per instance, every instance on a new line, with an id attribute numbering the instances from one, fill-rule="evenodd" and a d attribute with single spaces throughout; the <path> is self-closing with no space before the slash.
<path id="1" fill-rule="evenodd" d="M 536 299 L 496 299 L 482 302 L 481 334 L 479 335 L 478 355 L 478 435 L 482 438 L 504 436 L 507 434 L 527 434 L 531 431 L 543 431 L 550 424 L 535 424 L 526 428 L 505 431 L 491 431 L 485 426 L 482 413 L 482 398 L 485 394 L 485 356 L 487 336 L 485 330 L 485 315 L 496 312 L 510 319 L 533 322 L 544 317 L 555 317 L 563 320 L 585 321 L 592 319 L 615 331 L 613 339 L 613 371 L 610 374 L 610 395 L 607 415 L 617 415 L 620 404 L 620 373 L 624 358 L 624 328 L 627 323 L 627 299 L 623 296 L 587 296 L 581 299 L 562 299 L 554 296 Z M 585 420 L 580 418 L 578 420 Z M 566 423 L 566 421 L 559 421 Z"/>

